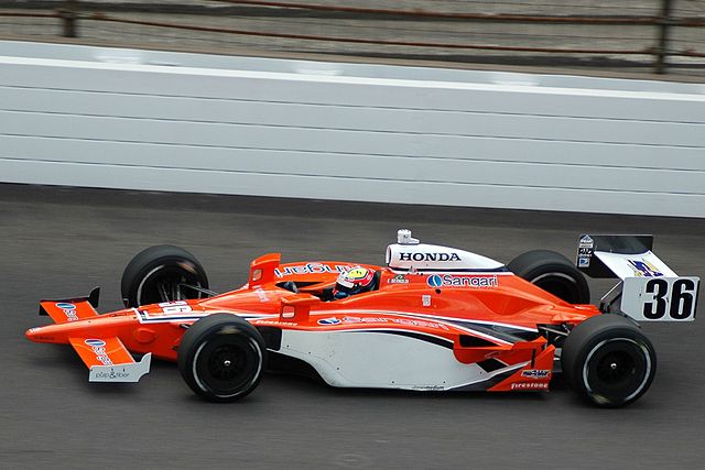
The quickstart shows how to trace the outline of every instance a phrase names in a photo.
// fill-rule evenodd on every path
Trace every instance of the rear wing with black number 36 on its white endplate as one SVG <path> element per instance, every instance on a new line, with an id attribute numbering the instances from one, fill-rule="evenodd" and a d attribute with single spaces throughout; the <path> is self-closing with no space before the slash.
<path id="1" fill-rule="evenodd" d="M 642 321 L 694 320 L 699 277 L 679 276 L 652 248 L 652 236 L 582 234 L 576 265 L 590 277 L 620 280 L 601 299 L 605 313 L 618 309 Z"/>

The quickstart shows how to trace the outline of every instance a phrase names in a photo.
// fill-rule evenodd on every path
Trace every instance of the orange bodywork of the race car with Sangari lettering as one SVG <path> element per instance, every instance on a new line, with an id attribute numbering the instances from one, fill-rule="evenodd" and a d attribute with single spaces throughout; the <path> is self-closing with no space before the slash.
<path id="1" fill-rule="evenodd" d="M 96 359 L 87 339 L 105 341 L 116 364 L 132 361 L 127 351 L 174 361 L 189 325 L 210 314 L 229 313 L 246 318 L 263 336 L 268 329 L 372 331 L 435 341 L 451 348 L 459 364 L 490 360 L 519 364 L 484 390 L 535 391 L 549 386 L 555 350 L 538 326 L 572 327 L 600 314 L 593 305 L 567 304 L 510 272 L 414 274 L 375 265 L 365 266 L 379 272 L 377 289 L 323 300 L 324 289 L 352 265 L 335 261 L 280 264 L 279 254 L 268 254 L 252 262 L 248 284 L 239 289 L 102 315 L 95 314 L 86 299 L 73 300 L 69 305 L 76 308 L 68 309 L 68 316 L 62 302 L 45 300 L 42 306 L 56 324 L 32 328 L 26 337 L 72 343 L 89 368 L 105 361 Z M 285 282 L 295 283 L 299 292 L 283 288 Z"/>

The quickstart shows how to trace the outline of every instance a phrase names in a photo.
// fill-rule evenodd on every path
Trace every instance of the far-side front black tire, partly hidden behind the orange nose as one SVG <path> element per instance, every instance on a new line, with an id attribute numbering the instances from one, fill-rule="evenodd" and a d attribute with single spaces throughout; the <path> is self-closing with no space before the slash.
<path id="1" fill-rule="evenodd" d="M 178 284 L 208 288 L 208 276 L 196 256 L 183 248 L 160 244 L 138 253 L 126 266 L 120 283 L 126 307 L 199 298 L 194 289 Z"/>

